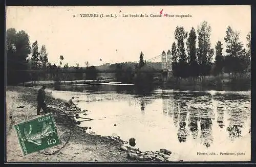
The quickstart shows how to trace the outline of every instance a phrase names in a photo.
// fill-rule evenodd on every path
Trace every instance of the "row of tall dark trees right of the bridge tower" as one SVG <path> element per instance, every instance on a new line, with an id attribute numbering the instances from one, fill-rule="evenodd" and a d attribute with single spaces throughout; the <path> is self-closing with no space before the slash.
<path id="1" fill-rule="evenodd" d="M 211 27 L 207 21 L 203 21 L 196 30 L 192 27 L 189 34 L 183 27 L 176 27 L 176 42 L 172 45 L 172 68 L 174 76 L 198 78 L 199 76 L 219 75 L 226 73 L 243 73 L 250 70 L 251 39 L 247 35 L 247 45 L 240 41 L 239 32 L 228 26 L 224 41 L 226 53 L 223 55 L 223 44 L 218 41 L 215 51 L 211 48 Z M 186 40 L 186 48 L 185 48 Z M 198 42 L 198 45 L 196 44 Z M 214 53 L 216 54 L 215 61 Z"/>

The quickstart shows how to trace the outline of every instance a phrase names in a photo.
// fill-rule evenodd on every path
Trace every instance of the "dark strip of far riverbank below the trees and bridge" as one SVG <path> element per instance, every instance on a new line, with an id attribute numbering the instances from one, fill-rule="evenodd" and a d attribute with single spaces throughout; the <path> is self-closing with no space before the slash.
<path id="1" fill-rule="evenodd" d="M 144 76 L 145 77 L 145 76 Z M 86 85 L 103 85 L 111 82 L 127 84 L 126 81 L 120 82 L 115 79 L 105 79 L 105 80 L 73 80 L 73 81 L 36 81 L 36 82 L 25 82 L 24 86 L 41 86 L 46 85 L 47 87 L 52 87 L 53 89 L 61 90 L 64 86 L 86 86 Z M 140 78 L 137 82 L 129 82 L 129 84 L 134 84 L 138 92 L 141 91 L 151 91 L 156 87 L 162 89 L 175 89 L 175 90 L 191 90 L 191 91 L 206 91 L 206 90 L 225 90 L 225 91 L 248 91 L 251 90 L 251 76 L 250 73 L 237 76 L 229 76 L 228 74 L 223 74 L 222 76 L 205 76 L 199 78 L 176 78 L 169 77 L 166 81 L 162 81 L 159 77 L 152 80 L 148 78 Z M 22 86 L 23 83 L 20 83 Z"/>

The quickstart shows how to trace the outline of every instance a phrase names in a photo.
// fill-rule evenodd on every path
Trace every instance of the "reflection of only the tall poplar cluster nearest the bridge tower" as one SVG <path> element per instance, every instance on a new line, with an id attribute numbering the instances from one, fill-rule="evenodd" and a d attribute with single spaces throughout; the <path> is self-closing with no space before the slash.
<path id="1" fill-rule="evenodd" d="M 178 96 L 179 95 L 179 96 Z M 179 97 L 179 98 L 178 98 Z M 167 98 L 166 98 L 167 99 Z M 213 110 L 211 108 L 205 108 L 198 109 L 198 107 L 202 106 L 202 101 L 199 101 L 199 99 L 191 100 L 190 98 L 182 98 L 180 94 L 174 94 L 174 97 L 172 98 L 172 103 L 168 102 L 168 100 L 165 100 L 163 98 L 163 114 L 166 113 L 166 109 L 172 108 L 173 114 L 170 114 L 170 116 L 173 116 L 174 124 L 175 126 L 179 126 L 179 129 L 177 131 L 177 138 L 179 142 L 186 142 L 188 135 L 191 134 L 193 139 L 197 139 L 198 134 L 200 132 L 200 141 L 205 147 L 210 147 L 213 142 L 213 136 L 212 136 L 212 116 L 213 116 Z M 201 100 L 202 98 L 200 98 Z M 207 102 L 210 102 L 210 99 L 203 99 L 205 102 L 204 104 L 207 104 Z M 194 102 L 194 103 L 193 103 Z M 188 105 L 188 103 L 190 105 Z M 200 104 L 198 104 L 200 103 Z M 168 106 L 172 105 L 172 106 Z M 169 111 L 168 111 L 169 112 Z M 187 131 L 186 126 L 188 126 L 188 129 L 190 131 Z"/>

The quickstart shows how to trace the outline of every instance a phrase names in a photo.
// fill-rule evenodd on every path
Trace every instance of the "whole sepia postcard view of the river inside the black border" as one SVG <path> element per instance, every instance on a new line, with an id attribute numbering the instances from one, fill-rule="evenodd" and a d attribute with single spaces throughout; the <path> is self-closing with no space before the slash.
<path id="1" fill-rule="evenodd" d="M 251 6 L 7 6 L 6 157 L 251 160 Z"/>

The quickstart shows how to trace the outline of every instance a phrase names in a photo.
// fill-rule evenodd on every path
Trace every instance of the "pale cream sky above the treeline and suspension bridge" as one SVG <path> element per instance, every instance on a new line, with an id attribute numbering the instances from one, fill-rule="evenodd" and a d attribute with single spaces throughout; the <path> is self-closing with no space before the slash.
<path id="1" fill-rule="evenodd" d="M 159 15 L 162 17 L 151 17 Z M 98 14 L 98 17 L 81 17 L 80 14 Z M 116 14 L 118 17 L 103 17 Z M 123 17 L 141 14 L 144 17 Z M 148 17 L 145 17 L 145 14 Z M 152 15 L 151 15 L 152 14 Z M 190 17 L 163 17 L 164 14 Z M 75 17 L 74 17 L 75 15 Z M 119 16 L 120 15 L 120 16 Z M 218 40 L 224 44 L 227 27 L 240 32 L 246 44 L 246 34 L 251 31 L 250 6 L 11 6 L 6 9 L 6 28 L 24 30 L 30 43 L 37 40 L 39 49 L 46 45 L 49 62 L 85 66 L 139 61 L 171 50 L 175 41 L 175 28 L 196 30 L 202 21 L 211 26 L 212 48 Z M 186 41 L 185 41 L 186 42 Z M 101 61 L 100 61 L 101 59 Z M 160 62 L 161 58 L 153 62 Z"/>

